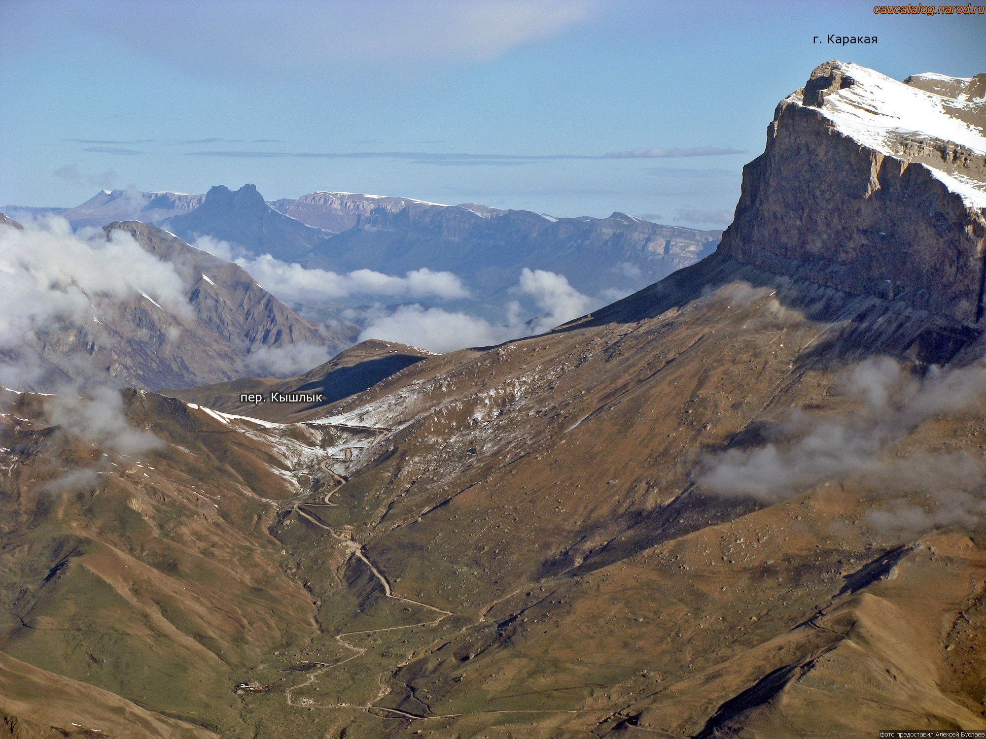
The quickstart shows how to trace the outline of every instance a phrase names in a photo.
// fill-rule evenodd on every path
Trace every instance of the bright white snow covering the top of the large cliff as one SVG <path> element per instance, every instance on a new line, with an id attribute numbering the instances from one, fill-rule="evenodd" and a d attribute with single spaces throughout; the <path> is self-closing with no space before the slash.
<path id="1" fill-rule="evenodd" d="M 890 156 L 894 155 L 889 145 L 891 134 L 953 141 L 977 154 L 986 154 L 983 132 L 951 116 L 946 99 L 941 96 L 858 64 L 841 64 L 840 68 L 855 84 L 827 95 L 818 109 L 841 133 Z M 971 106 L 950 102 L 955 107 Z"/>

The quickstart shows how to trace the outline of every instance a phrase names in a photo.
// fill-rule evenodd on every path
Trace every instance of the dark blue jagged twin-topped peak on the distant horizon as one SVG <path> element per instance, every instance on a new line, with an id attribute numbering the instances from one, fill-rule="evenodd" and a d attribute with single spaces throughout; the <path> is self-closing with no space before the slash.
<path id="1" fill-rule="evenodd" d="M 271 208 L 251 184 L 236 192 L 223 185 L 213 187 L 195 210 L 162 225 L 188 240 L 209 235 L 285 261 L 303 259 L 327 235 Z"/>

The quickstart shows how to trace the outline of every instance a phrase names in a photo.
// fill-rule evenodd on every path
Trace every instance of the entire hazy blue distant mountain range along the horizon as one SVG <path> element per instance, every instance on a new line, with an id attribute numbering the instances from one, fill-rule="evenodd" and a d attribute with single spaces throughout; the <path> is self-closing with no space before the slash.
<path id="1" fill-rule="evenodd" d="M 23 210 L 4 208 L 14 217 Z M 188 241 L 208 235 L 310 269 L 449 270 L 478 299 L 515 285 L 524 267 L 564 275 L 583 293 L 625 295 L 712 253 L 722 235 L 623 213 L 554 218 L 351 192 L 266 202 L 251 184 L 236 191 L 220 185 L 205 195 L 104 190 L 76 208 L 50 212 L 74 227 L 138 220 Z"/>

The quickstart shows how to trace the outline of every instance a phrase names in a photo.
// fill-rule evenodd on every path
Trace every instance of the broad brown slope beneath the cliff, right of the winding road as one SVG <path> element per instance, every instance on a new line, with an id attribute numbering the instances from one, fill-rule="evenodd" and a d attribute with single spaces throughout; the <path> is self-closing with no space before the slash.
<path id="1" fill-rule="evenodd" d="M 348 476 L 337 507 L 310 510 L 352 530 L 394 592 L 456 614 L 421 635 L 417 659 L 378 705 L 461 714 L 427 724 L 352 717 L 352 735 L 427 726 L 576 737 L 648 723 L 691 736 L 772 725 L 779 710 L 788 715 L 769 703 L 778 700 L 795 723 L 766 735 L 855 736 L 908 718 L 986 725 L 981 682 L 961 677 L 983 643 L 972 630 L 946 650 L 938 631 L 959 613 L 973 623 L 986 615 L 981 527 L 911 534 L 884 585 L 892 568 L 880 571 L 881 558 L 902 534 L 867 522 L 869 507 L 885 505 L 872 485 L 822 486 L 765 507 L 690 485 L 703 448 L 748 438 L 792 405 L 845 408 L 838 370 L 906 355 L 939 330 L 939 319 L 899 304 L 715 258 L 564 331 L 427 360 L 341 404 L 341 423 L 400 431 L 369 460 L 334 465 Z M 975 449 L 978 418 L 958 414 L 903 444 L 956 437 Z M 872 581 L 851 576 L 868 563 Z M 816 626 L 799 627 L 819 613 Z M 744 693 L 777 670 L 784 679 L 767 680 L 763 701 Z M 875 684 L 886 670 L 895 677 Z M 340 680 L 326 674 L 305 695 L 333 705 L 352 695 Z M 809 685 L 824 696 L 810 698 Z M 545 712 L 485 712 L 494 708 Z"/>

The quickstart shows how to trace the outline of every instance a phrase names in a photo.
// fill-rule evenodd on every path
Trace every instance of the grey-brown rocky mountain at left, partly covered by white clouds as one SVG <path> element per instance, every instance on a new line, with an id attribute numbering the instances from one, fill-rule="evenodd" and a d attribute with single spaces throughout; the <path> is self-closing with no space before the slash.
<path id="1" fill-rule="evenodd" d="M 51 389 L 89 371 L 114 385 L 186 387 L 243 376 L 247 368 L 291 373 L 302 362 L 338 351 L 358 329 L 334 329 L 304 320 L 258 286 L 241 267 L 189 246 L 175 235 L 139 222 L 106 226 L 133 236 L 147 252 L 171 265 L 187 306 L 162 304 L 143 293 L 86 296 L 90 318 L 44 323 L 35 345 L 13 364 L 31 362 L 31 388 Z M 180 309 L 179 309 L 180 308 Z M 85 370 L 85 371 L 84 371 Z"/>

